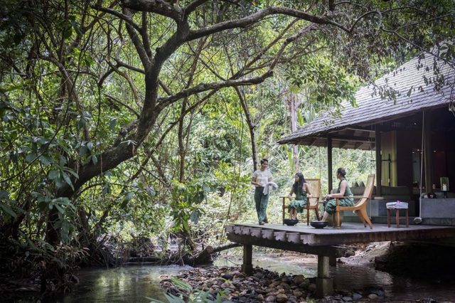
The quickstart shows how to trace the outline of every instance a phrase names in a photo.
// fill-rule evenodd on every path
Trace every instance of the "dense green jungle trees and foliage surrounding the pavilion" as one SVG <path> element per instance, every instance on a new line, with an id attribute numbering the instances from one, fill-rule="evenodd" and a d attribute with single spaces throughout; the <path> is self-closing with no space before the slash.
<path id="1" fill-rule="evenodd" d="M 424 50 L 454 54 L 451 0 L 0 5 L 1 279 L 43 292 L 144 241 L 165 257 L 177 239 L 178 260 L 223 244 L 225 223 L 255 220 L 263 157 L 279 220 L 296 169 L 327 188 L 326 149 L 275 143 L 291 121 L 336 117 Z M 333 165 L 362 181 L 373 156 L 334 151 Z"/>

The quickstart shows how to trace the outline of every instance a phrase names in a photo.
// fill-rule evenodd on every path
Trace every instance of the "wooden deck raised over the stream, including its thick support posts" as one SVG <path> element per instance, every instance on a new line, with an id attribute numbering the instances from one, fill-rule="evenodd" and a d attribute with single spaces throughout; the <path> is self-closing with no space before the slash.
<path id="1" fill-rule="evenodd" d="M 252 246 L 277 248 L 318 255 L 316 296 L 324 297 L 333 292 L 333 280 L 328 270 L 335 257 L 353 253 L 348 244 L 380 241 L 435 240 L 455 238 L 455 226 L 410 225 L 408 228 L 375 224 L 373 229 L 360 223 L 343 222 L 341 228 L 316 229 L 304 223 L 295 226 L 282 224 L 237 223 L 225 226 L 226 235 L 234 243 L 243 245 L 242 271 L 253 272 Z"/>

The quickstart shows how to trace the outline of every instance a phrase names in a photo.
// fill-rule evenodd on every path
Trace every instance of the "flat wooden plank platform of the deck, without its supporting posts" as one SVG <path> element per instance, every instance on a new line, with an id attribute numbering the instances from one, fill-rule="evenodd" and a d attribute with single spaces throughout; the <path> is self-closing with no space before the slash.
<path id="1" fill-rule="evenodd" d="M 273 230 L 274 237 L 269 240 L 286 241 L 292 237 L 296 243 L 296 234 L 299 234 L 301 244 L 304 245 L 346 245 L 352 243 L 370 243 L 380 241 L 406 241 L 406 240 L 433 240 L 441 238 L 455 238 L 455 226 L 439 226 L 439 225 L 410 225 L 408 228 L 405 225 L 400 225 L 397 228 L 391 225 L 387 228 L 386 224 L 375 224 L 373 229 L 364 228 L 361 223 L 343 223 L 341 228 L 326 228 L 316 229 L 299 223 L 294 226 L 282 224 L 265 224 L 259 225 L 254 223 L 236 223 L 235 228 L 225 227 L 228 233 L 235 233 L 236 239 L 239 237 L 252 237 L 254 235 L 250 230 Z M 241 230 L 241 231 L 240 231 Z M 283 235 L 282 232 L 285 232 Z M 257 235 L 262 238 L 261 235 Z M 229 238 L 229 237 L 228 237 Z M 242 241 L 243 242 L 243 241 Z M 256 244 L 257 245 L 257 244 Z M 265 245 L 264 245 L 265 246 Z"/>

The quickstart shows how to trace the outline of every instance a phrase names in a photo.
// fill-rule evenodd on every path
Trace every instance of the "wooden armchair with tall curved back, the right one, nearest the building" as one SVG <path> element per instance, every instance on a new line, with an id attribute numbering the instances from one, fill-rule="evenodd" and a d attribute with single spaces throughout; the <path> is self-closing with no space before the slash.
<path id="1" fill-rule="evenodd" d="M 373 186 L 375 184 L 375 175 L 368 175 L 367 184 L 365 186 L 365 191 L 363 196 L 354 196 L 354 200 L 358 199 L 357 203 L 354 206 L 339 206 L 338 199 L 336 198 L 336 211 L 332 214 L 333 227 L 335 227 L 334 217 L 336 216 L 336 227 L 340 228 L 340 211 L 355 211 L 357 216 L 362 220 L 363 226 L 367 227 L 366 223 L 370 225 L 370 228 L 373 229 L 373 223 L 371 223 L 370 218 L 367 213 L 367 205 L 373 194 Z"/>

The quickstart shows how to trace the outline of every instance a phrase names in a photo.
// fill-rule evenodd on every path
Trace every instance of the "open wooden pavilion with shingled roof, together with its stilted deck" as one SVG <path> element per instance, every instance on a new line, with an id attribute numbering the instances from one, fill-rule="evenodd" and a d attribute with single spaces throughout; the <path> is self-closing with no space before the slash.
<path id="1" fill-rule="evenodd" d="M 316 295 L 323 297 L 333 292 L 329 259 L 346 254 L 345 245 L 394 240 L 454 244 L 455 63 L 444 60 L 443 52 L 436 55 L 413 58 L 374 85 L 362 87 L 355 95 L 357 107 L 344 104 L 339 116 L 324 112 L 279 140 L 279 144 L 327 147 L 329 190 L 333 148 L 374 149 L 376 186 L 368 210 L 374 228 L 357 223 L 324 230 L 305 224 L 225 226 L 228 239 L 243 245 L 244 272 L 252 273 L 253 245 L 315 254 Z M 355 195 L 363 193 L 363 188 L 351 190 Z M 421 198 L 429 192 L 437 198 Z M 380 224 L 387 222 L 385 203 L 397 200 L 409 202 L 411 216 L 419 216 L 422 225 L 390 228 Z M 345 212 L 345 222 L 356 218 Z"/>

